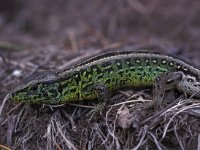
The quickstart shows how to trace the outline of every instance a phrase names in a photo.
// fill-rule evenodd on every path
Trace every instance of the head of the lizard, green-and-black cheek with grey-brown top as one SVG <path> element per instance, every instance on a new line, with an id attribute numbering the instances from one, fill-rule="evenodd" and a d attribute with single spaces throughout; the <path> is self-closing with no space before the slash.
<path id="1" fill-rule="evenodd" d="M 10 97 L 16 102 L 49 104 L 49 101 L 58 95 L 56 79 L 56 74 L 53 72 L 33 74 L 22 81 L 11 92 Z"/>

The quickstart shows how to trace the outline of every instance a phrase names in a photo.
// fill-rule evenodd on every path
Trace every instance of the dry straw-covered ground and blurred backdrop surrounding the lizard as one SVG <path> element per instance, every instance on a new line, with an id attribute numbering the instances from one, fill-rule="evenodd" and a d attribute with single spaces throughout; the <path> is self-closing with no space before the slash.
<path id="1" fill-rule="evenodd" d="M 140 108 L 152 88 L 62 106 L 7 94 L 35 72 L 67 68 L 109 48 L 148 49 L 199 67 L 199 1 L 0 0 L 0 149 L 197 149 L 199 99 Z"/>

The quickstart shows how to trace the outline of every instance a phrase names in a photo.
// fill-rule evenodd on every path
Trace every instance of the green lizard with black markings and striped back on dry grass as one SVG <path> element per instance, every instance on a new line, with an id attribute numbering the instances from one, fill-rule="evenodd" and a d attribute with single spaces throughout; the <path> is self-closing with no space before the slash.
<path id="1" fill-rule="evenodd" d="M 159 81 L 163 75 L 169 79 Z M 67 70 L 33 75 L 14 89 L 11 98 L 16 102 L 63 104 L 106 99 L 108 94 L 127 87 L 155 84 L 155 90 L 162 89 L 161 82 L 200 97 L 199 80 L 200 70 L 177 58 L 148 52 L 117 51 L 93 57 Z"/>

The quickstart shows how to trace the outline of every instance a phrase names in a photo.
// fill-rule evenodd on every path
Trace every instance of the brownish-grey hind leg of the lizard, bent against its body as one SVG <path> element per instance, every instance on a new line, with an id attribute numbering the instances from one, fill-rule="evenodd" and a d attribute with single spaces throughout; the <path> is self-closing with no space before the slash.
<path id="1" fill-rule="evenodd" d="M 165 97 L 167 99 L 175 99 L 174 89 L 183 80 L 184 73 L 181 71 L 165 73 L 156 78 L 153 90 L 153 106 L 160 107 Z M 168 95 L 166 96 L 166 93 Z"/>

